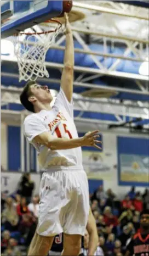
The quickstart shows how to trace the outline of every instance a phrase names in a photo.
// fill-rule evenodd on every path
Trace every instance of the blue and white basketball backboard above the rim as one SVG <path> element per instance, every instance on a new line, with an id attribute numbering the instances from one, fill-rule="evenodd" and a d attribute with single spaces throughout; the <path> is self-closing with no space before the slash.
<path id="1" fill-rule="evenodd" d="M 12 36 L 62 13 L 60 1 L 1 1 L 1 38 Z"/>

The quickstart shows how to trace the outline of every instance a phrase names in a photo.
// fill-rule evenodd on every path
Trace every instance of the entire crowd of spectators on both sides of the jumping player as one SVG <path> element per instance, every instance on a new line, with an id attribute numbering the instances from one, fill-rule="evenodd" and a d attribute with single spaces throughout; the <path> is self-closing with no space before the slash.
<path id="1" fill-rule="evenodd" d="M 18 190 L 1 193 L 1 255 L 26 255 L 38 221 L 39 196 L 34 183 L 24 175 Z M 122 256 L 131 236 L 140 229 L 140 212 L 149 209 L 149 190 L 132 188 L 120 201 L 111 189 L 100 186 L 90 194 L 90 205 L 105 255 Z"/>

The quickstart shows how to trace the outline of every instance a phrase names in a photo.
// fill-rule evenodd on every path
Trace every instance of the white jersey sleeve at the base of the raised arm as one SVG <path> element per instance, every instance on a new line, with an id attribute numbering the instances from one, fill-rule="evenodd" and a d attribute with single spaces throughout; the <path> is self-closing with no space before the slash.
<path id="1" fill-rule="evenodd" d="M 73 118 L 73 100 L 71 100 L 71 103 L 68 102 L 66 95 L 62 88 L 60 88 L 60 91 L 58 93 L 58 96 L 56 98 L 56 101 L 54 103 L 54 107 L 62 106 L 66 109 L 67 113 Z"/>

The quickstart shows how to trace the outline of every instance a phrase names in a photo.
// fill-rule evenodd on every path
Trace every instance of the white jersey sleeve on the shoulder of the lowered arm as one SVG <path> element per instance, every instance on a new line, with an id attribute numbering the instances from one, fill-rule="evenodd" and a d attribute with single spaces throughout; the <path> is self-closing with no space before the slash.
<path id="1" fill-rule="evenodd" d="M 24 135 L 29 142 L 33 140 L 37 135 L 49 131 L 41 119 L 37 116 L 27 116 L 24 120 Z"/>

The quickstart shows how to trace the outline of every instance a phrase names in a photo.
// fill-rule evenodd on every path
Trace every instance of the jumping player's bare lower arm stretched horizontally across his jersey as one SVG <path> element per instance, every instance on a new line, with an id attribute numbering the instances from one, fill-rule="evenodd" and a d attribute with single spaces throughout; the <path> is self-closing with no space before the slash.
<path id="1" fill-rule="evenodd" d="M 95 148 L 101 149 L 97 144 L 101 143 L 98 140 L 99 131 L 93 131 L 86 133 L 83 137 L 79 138 L 54 138 L 49 131 L 43 132 L 33 138 L 36 143 L 43 144 L 44 146 L 50 148 L 51 150 L 60 150 L 60 149 L 71 149 L 82 146 L 93 146 Z"/>

